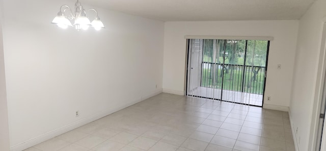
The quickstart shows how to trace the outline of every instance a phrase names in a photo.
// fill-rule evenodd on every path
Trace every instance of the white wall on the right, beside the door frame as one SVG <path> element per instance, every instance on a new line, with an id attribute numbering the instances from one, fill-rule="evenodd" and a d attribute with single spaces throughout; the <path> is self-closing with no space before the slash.
<path id="1" fill-rule="evenodd" d="M 312 150 L 315 134 L 316 113 L 319 98 L 322 60 L 319 61 L 322 18 L 326 15 L 326 1 L 317 0 L 300 19 L 295 66 L 293 72 L 292 98 L 290 104 L 293 128 L 298 149 Z M 308 147 L 309 146 L 309 147 Z"/>

